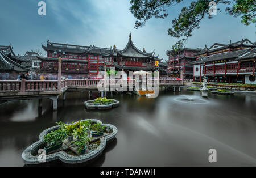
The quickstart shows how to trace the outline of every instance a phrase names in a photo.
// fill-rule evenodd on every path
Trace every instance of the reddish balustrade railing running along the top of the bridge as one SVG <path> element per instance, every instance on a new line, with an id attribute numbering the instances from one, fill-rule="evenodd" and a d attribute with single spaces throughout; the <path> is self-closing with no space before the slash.
<path id="1" fill-rule="evenodd" d="M 116 84 L 119 79 L 108 80 L 109 86 Z M 47 92 L 63 91 L 68 87 L 97 87 L 100 80 L 0 80 L 0 92 Z M 151 83 L 154 85 L 154 80 Z M 134 85 L 135 80 L 127 80 L 127 86 Z M 159 85 L 183 85 L 183 80 L 160 79 Z"/>

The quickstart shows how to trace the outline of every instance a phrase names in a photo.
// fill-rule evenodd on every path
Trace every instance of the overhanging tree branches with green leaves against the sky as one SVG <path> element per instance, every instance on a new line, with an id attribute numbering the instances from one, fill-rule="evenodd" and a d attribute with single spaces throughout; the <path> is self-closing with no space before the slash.
<path id="1" fill-rule="evenodd" d="M 192 36 L 192 32 L 200 28 L 200 22 L 206 16 L 213 18 L 209 14 L 209 2 L 212 0 L 191 1 L 188 7 L 183 7 L 177 18 L 172 20 L 172 27 L 168 29 L 168 35 L 180 39 L 172 46 L 177 50 L 183 48 L 188 37 Z M 168 16 L 168 8 L 184 0 L 131 0 L 130 11 L 137 18 L 135 28 L 142 27 L 147 20 L 153 16 L 155 18 L 166 18 Z M 217 5 L 228 5 L 226 14 L 234 17 L 241 17 L 241 23 L 246 26 L 256 23 L 256 1 L 255 0 L 216 0 Z M 221 11 L 217 9 L 217 11 Z"/>

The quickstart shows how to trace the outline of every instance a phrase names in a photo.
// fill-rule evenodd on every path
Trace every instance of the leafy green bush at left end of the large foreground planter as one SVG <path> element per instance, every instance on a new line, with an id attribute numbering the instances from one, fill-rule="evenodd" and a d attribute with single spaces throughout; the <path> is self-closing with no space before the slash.
<path id="1" fill-rule="evenodd" d="M 65 130 L 58 129 L 44 135 L 44 141 L 47 142 L 47 146 L 55 146 L 62 143 L 67 137 Z"/>

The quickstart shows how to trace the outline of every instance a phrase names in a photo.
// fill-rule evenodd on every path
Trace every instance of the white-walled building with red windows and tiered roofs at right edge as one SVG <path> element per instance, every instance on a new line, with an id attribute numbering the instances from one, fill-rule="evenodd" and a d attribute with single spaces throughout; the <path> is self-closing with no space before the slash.
<path id="1" fill-rule="evenodd" d="M 207 77 L 208 82 L 255 82 L 255 43 L 242 39 L 235 43 L 214 43 L 195 53 L 193 80 L 201 81 Z"/>

